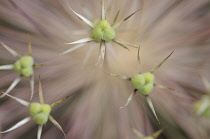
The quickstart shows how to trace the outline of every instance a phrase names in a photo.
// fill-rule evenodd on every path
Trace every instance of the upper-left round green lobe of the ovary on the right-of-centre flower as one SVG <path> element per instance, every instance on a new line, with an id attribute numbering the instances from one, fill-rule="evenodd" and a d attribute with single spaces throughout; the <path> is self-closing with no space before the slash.
<path id="1" fill-rule="evenodd" d="M 131 77 L 131 84 L 134 88 L 139 89 L 145 85 L 145 77 L 142 74 L 137 74 Z"/>

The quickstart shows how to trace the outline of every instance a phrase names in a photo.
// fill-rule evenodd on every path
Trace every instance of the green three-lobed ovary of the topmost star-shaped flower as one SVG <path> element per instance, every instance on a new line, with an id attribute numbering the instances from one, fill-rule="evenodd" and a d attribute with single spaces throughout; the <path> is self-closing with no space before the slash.
<path id="1" fill-rule="evenodd" d="M 115 31 L 108 21 L 102 20 L 97 22 L 96 26 L 93 28 L 91 37 L 95 42 L 101 42 L 102 40 L 110 42 L 115 38 Z"/>

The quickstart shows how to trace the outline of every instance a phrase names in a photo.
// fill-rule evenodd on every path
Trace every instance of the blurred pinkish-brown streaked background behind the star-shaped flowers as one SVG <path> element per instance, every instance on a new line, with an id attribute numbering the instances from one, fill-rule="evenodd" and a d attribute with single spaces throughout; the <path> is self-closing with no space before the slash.
<path id="1" fill-rule="evenodd" d="M 102 68 L 95 66 L 99 44 L 59 55 L 74 45 L 65 43 L 89 37 L 91 28 L 67 6 L 90 21 L 99 20 L 101 0 L 1 0 L 0 41 L 22 55 L 27 54 L 30 34 L 35 63 L 35 95 L 30 101 L 29 79 L 24 78 L 11 92 L 29 102 L 38 101 L 38 75 L 41 75 L 45 103 L 71 97 L 52 110 L 68 139 L 138 139 L 132 128 L 149 136 L 166 127 L 158 139 L 209 139 L 210 120 L 197 116 L 193 104 L 207 93 L 199 74 L 210 82 L 210 1 L 209 0 L 106 0 L 107 20 L 119 20 L 140 7 L 142 10 L 116 30 L 116 37 L 141 46 L 142 71 L 147 72 L 171 51 L 174 54 L 155 72 L 157 84 L 181 93 L 155 88 L 150 94 L 160 125 L 145 97 L 137 93 L 123 106 L 133 91 L 129 81 L 104 72 L 133 76 L 137 70 L 137 49 L 127 51 L 107 44 Z M 88 58 L 88 50 L 95 47 Z M 0 65 L 13 64 L 13 58 L 0 47 Z M 0 91 L 18 76 L 13 70 L 0 71 Z M 0 99 L 0 129 L 6 130 L 29 115 L 28 109 L 8 97 Z M 36 139 L 37 125 L 31 121 L 2 139 Z M 48 122 L 43 139 L 62 139 L 63 134 Z"/>

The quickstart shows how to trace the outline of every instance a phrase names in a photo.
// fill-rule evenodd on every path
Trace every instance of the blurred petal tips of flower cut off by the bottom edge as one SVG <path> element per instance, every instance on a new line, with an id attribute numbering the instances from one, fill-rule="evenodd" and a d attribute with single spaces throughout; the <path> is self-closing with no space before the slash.
<path id="1" fill-rule="evenodd" d="M 138 130 L 133 129 L 133 132 L 136 134 L 136 136 L 139 139 L 156 139 L 158 138 L 158 136 L 163 132 L 164 129 L 160 129 L 158 131 L 156 131 L 155 133 L 153 133 L 151 136 L 144 136 L 142 133 L 140 133 Z"/>

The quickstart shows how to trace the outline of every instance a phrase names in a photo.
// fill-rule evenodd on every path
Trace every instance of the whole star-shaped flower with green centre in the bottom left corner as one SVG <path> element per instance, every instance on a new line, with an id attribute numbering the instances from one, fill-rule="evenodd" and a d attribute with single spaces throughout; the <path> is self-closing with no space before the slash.
<path id="1" fill-rule="evenodd" d="M 0 133 L 6 133 L 6 132 L 10 132 L 24 124 L 26 124 L 27 122 L 29 122 L 30 120 L 33 120 L 36 124 L 38 124 L 38 132 L 37 132 L 37 139 L 41 138 L 41 133 L 42 133 L 42 128 L 43 125 L 45 125 L 47 123 L 48 120 L 50 120 L 57 128 L 59 128 L 64 136 L 66 137 L 62 127 L 59 125 L 59 123 L 50 115 L 50 112 L 52 110 L 52 108 L 54 108 L 55 106 L 59 105 L 60 103 L 62 103 L 64 100 L 66 100 L 69 96 L 55 102 L 52 104 L 45 104 L 44 103 L 44 99 L 43 99 L 43 93 L 42 93 L 42 86 L 41 86 L 41 82 L 40 82 L 40 78 L 39 78 L 39 100 L 40 103 L 38 102 L 33 102 L 33 103 L 29 103 L 25 100 L 19 99 L 17 97 L 11 96 L 9 94 L 6 94 L 7 96 L 9 96 L 10 98 L 16 100 L 17 102 L 19 102 L 20 104 L 26 106 L 29 108 L 29 113 L 30 116 L 26 117 L 25 119 L 21 120 L 20 122 L 18 122 L 17 124 L 15 124 L 13 127 L 11 127 L 10 129 L 6 130 L 6 131 L 2 131 Z"/>

